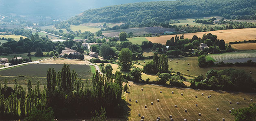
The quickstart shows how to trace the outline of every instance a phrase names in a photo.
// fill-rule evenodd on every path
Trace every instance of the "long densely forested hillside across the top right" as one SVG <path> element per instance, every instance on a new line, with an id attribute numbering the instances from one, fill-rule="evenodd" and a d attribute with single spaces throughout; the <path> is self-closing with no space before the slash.
<path id="1" fill-rule="evenodd" d="M 130 27 L 160 25 L 170 19 L 222 16 L 226 19 L 256 19 L 255 0 L 176 0 L 140 2 L 85 10 L 69 23 L 123 22 Z"/>

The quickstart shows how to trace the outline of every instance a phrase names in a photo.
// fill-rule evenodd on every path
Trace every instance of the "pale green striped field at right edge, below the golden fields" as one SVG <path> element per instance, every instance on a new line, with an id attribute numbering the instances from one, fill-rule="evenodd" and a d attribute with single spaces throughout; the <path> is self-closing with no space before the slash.
<path id="1" fill-rule="evenodd" d="M 254 58 L 256 57 L 256 50 L 228 52 L 223 54 L 210 54 L 208 56 L 213 58 L 214 61 L 232 60 L 239 58 Z"/>

